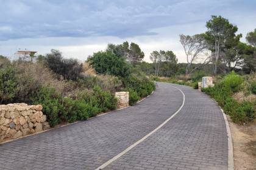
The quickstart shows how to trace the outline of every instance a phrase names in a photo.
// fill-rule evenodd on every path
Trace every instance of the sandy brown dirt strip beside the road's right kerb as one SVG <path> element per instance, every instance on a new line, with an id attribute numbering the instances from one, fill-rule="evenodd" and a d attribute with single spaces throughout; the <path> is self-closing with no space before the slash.
<path id="1" fill-rule="evenodd" d="M 235 170 L 256 170 L 256 122 L 238 125 L 230 118 Z"/>

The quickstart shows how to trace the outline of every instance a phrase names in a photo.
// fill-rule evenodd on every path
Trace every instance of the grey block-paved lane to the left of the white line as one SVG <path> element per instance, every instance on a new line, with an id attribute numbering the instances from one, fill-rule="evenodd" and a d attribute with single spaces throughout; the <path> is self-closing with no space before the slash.
<path id="1" fill-rule="evenodd" d="M 0 169 L 98 168 L 151 132 L 180 107 L 183 100 L 180 91 L 167 83 L 158 85 L 151 97 L 136 106 L 0 144 Z M 164 138 L 163 143 L 166 142 Z M 142 151 L 145 152 L 145 148 Z"/>

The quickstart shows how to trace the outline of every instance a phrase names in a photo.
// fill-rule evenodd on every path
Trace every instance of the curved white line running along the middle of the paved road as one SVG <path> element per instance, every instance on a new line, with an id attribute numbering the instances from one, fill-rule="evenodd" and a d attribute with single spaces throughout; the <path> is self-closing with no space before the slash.
<path id="1" fill-rule="evenodd" d="M 175 86 L 172 86 L 175 87 Z M 176 89 L 180 90 L 179 88 L 175 87 Z M 154 132 L 156 132 L 158 129 L 160 129 L 162 126 L 164 126 L 169 120 L 171 120 L 173 117 L 175 117 L 175 115 L 177 115 L 179 113 L 179 111 L 182 109 L 182 107 L 185 104 L 185 94 L 182 92 L 182 90 L 180 90 L 180 92 L 183 95 L 183 101 L 182 101 L 182 105 L 179 107 L 179 109 L 171 115 L 171 117 L 169 117 L 168 119 L 166 119 L 162 124 L 160 124 L 157 128 L 155 128 L 153 131 L 149 132 L 149 134 L 145 135 L 143 138 L 141 138 L 140 140 L 138 140 L 137 142 L 133 143 L 131 146 L 129 146 L 128 148 L 126 148 L 123 152 L 120 152 L 118 155 L 115 155 L 115 157 L 111 158 L 110 160 L 106 161 L 104 164 L 102 164 L 101 166 L 99 166 L 98 168 L 96 168 L 95 170 L 100 170 L 105 168 L 106 166 L 110 165 L 110 163 L 112 163 L 113 161 L 117 160 L 119 157 L 123 156 L 124 154 L 126 154 L 126 152 L 130 151 L 130 149 L 134 148 L 135 146 L 137 146 L 138 144 L 140 144 L 142 141 L 146 140 L 146 138 L 148 138 L 149 136 L 151 136 L 152 134 L 154 134 Z"/>

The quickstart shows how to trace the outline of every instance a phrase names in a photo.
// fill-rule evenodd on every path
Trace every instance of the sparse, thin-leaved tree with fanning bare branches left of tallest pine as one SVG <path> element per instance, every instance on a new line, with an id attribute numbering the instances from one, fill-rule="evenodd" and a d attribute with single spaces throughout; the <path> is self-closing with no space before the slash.
<path id="1" fill-rule="evenodd" d="M 197 59 L 199 59 L 199 56 L 202 55 L 202 53 L 205 52 L 205 50 L 208 47 L 207 42 L 205 41 L 205 35 L 204 34 L 197 34 L 197 35 L 180 35 L 180 43 L 182 44 L 182 47 L 185 51 L 185 54 L 187 56 L 187 67 L 186 67 L 186 75 L 190 72 L 193 72 L 193 70 L 190 70 L 191 64 L 194 63 Z M 208 57 L 204 60 L 204 63 L 208 60 Z"/>

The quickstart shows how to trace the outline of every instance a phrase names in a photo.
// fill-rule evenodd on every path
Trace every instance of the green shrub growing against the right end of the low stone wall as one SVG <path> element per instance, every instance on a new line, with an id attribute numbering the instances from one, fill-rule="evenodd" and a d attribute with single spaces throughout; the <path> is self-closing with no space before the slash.
<path id="1" fill-rule="evenodd" d="M 34 104 L 43 106 L 43 113 L 50 126 L 55 126 L 62 121 L 67 121 L 65 107 L 61 104 L 61 97 L 54 89 L 42 87 L 34 97 Z"/>

